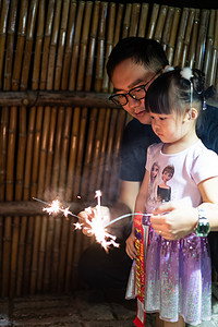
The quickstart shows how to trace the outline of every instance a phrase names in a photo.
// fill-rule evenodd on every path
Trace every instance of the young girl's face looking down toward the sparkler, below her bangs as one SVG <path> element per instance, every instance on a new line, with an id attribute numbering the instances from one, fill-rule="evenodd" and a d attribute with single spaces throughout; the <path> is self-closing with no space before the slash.
<path id="1" fill-rule="evenodd" d="M 155 134 L 164 143 L 174 143 L 187 133 L 184 119 L 175 112 L 170 114 L 150 112 L 150 119 Z"/>

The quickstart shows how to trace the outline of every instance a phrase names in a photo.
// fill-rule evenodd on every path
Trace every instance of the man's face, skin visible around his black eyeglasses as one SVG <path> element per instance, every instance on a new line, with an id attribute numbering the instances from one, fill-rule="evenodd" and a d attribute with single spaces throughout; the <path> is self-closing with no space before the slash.
<path id="1" fill-rule="evenodd" d="M 133 87 L 154 81 L 155 72 L 146 70 L 142 64 L 134 63 L 131 59 L 125 59 L 119 63 L 112 74 L 111 81 L 114 93 L 126 94 Z M 150 83 L 152 83 L 150 82 Z M 146 86 L 147 89 L 150 83 Z M 145 99 L 136 100 L 128 96 L 128 104 L 123 109 L 143 124 L 150 123 L 150 117 L 145 110 Z"/>

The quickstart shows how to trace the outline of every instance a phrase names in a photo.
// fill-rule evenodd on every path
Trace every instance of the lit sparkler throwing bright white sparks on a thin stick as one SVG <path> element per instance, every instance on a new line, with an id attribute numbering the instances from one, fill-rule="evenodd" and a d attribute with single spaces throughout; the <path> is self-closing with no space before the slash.
<path id="1" fill-rule="evenodd" d="M 90 208 L 90 207 L 85 208 L 85 211 L 87 213 L 88 216 L 89 215 L 94 216 L 90 220 L 88 218 L 82 218 L 82 217 L 78 217 L 77 215 L 74 215 L 73 213 L 71 213 L 69 210 L 69 208 L 61 207 L 61 204 L 58 199 L 52 201 L 51 204 L 49 204 L 43 199 L 39 199 L 37 197 L 33 197 L 33 199 L 38 201 L 38 202 L 45 204 L 46 206 L 48 206 L 48 207 L 44 208 L 43 210 L 48 213 L 49 215 L 62 213 L 65 218 L 68 218 L 68 216 L 72 216 L 74 218 L 85 220 L 86 225 L 88 225 L 87 232 L 92 235 L 95 235 L 96 241 L 101 244 L 101 246 L 105 249 L 105 251 L 108 251 L 108 246 L 110 246 L 110 245 L 113 245 L 114 247 L 119 247 L 120 244 L 116 242 L 117 238 L 114 235 L 110 234 L 106 228 L 119 220 L 122 220 L 130 216 L 135 216 L 137 214 L 136 213 L 126 214 L 126 215 L 120 216 L 108 222 L 109 217 L 107 217 L 106 215 L 104 216 L 102 211 L 101 211 L 101 206 L 100 206 L 101 191 L 100 190 L 96 191 L 95 197 L 97 198 L 96 208 Z M 150 214 L 143 214 L 143 216 L 148 217 L 148 216 L 150 216 Z M 81 230 L 83 228 L 84 223 L 77 221 L 73 225 L 74 225 L 75 229 Z"/>

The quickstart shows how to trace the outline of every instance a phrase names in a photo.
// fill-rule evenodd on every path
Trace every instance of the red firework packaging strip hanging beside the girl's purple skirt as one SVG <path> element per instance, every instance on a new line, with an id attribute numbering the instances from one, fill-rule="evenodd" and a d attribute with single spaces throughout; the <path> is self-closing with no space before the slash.
<path id="1" fill-rule="evenodd" d="M 143 215 L 138 214 L 134 219 L 135 247 L 137 250 L 136 264 L 136 296 L 137 313 L 134 324 L 137 327 L 145 326 L 145 250 L 147 244 L 148 226 L 143 226 Z"/>

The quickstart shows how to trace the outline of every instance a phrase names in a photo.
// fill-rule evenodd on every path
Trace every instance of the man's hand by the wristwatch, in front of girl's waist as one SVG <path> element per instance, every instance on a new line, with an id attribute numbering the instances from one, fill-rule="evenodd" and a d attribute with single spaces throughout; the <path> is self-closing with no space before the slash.
<path id="1" fill-rule="evenodd" d="M 157 233 L 167 240 L 178 240 L 194 231 L 198 219 L 196 208 L 167 203 L 152 213 L 150 222 Z"/>

